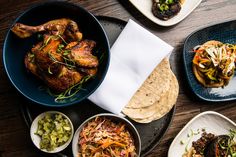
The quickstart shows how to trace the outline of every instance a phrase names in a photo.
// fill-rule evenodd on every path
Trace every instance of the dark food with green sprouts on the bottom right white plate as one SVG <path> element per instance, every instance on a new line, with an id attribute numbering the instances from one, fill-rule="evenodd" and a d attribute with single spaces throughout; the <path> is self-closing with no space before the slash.
<path id="1" fill-rule="evenodd" d="M 204 132 L 182 157 L 236 157 L 236 130 L 219 136 Z"/>

